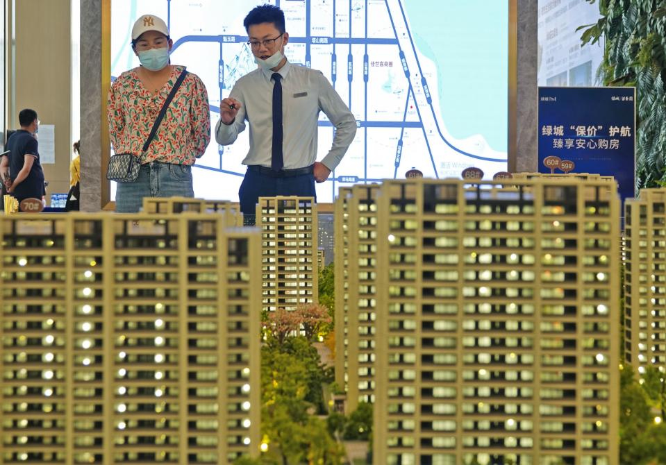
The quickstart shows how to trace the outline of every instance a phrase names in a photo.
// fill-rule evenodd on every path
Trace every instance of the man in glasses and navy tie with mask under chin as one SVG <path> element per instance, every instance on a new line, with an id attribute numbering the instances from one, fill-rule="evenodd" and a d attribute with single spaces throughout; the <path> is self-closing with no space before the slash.
<path id="1" fill-rule="evenodd" d="M 238 196 L 244 214 L 254 214 L 260 196 L 297 195 L 316 198 L 315 181 L 323 183 L 338 166 L 356 135 L 356 119 L 322 71 L 292 65 L 284 56 L 289 33 L 277 6 L 251 10 L 243 26 L 258 69 L 236 81 L 219 105 L 215 138 L 233 144 L 250 124 L 250 149 Z M 328 154 L 317 162 L 319 112 L 335 126 Z"/>

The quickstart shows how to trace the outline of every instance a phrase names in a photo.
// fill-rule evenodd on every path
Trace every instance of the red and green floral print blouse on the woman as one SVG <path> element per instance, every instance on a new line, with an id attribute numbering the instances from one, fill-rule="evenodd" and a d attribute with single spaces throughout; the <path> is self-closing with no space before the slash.
<path id="1" fill-rule="evenodd" d="M 109 90 L 107 117 L 115 153 L 141 155 L 164 101 L 185 67 L 172 67 L 169 81 L 152 94 L 139 80 L 136 69 L 118 76 Z M 196 74 L 188 73 L 167 108 L 153 142 L 141 162 L 194 164 L 210 142 L 208 93 Z"/>

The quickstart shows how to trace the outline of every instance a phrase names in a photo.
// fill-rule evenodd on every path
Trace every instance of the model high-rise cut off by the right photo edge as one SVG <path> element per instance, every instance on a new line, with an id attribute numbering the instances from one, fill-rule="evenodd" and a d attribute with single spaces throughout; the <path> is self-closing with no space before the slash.
<path id="1" fill-rule="evenodd" d="M 666 368 L 666 189 L 642 189 L 624 203 L 625 347 L 644 373 Z"/>

